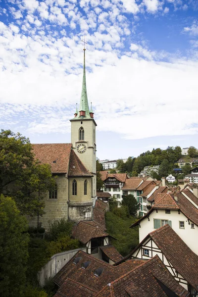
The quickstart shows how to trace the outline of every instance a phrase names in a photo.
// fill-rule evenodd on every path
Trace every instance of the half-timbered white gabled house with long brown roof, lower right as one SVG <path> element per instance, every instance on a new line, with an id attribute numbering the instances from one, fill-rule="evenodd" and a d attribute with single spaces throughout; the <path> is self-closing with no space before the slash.
<path id="1" fill-rule="evenodd" d="M 150 232 L 126 258 L 149 259 L 158 255 L 174 279 L 198 296 L 198 255 L 168 225 Z"/>

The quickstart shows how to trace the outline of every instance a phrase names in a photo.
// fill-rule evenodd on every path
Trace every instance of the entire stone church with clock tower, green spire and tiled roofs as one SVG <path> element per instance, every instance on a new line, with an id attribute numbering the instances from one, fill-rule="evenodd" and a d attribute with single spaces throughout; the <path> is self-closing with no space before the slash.
<path id="1" fill-rule="evenodd" d="M 76 107 L 71 122 L 70 144 L 35 144 L 35 158 L 51 166 L 56 176 L 56 186 L 45 197 L 45 214 L 29 218 L 31 226 L 42 224 L 48 228 L 53 220 L 66 219 L 79 222 L 93 219 L 96 201 L 96 122 L 89 108 L 85 49 L 83 64 L 83 86 L 79 110 Z"/>

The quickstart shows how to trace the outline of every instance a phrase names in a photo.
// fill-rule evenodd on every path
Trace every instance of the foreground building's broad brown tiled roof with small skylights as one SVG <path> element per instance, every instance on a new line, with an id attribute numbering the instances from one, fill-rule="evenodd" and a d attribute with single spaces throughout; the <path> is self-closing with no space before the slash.
<path id="1" fill-rule="evenodd" d="M 189 296 L 158 255 L 112 266 L 79 251 L 55 275 L 53 282 L 59 288 L 54 297 Z"/>

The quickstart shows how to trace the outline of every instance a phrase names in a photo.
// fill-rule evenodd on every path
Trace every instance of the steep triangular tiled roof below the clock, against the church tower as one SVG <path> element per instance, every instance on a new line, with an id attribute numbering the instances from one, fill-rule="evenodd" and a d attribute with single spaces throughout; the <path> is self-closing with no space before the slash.
<path id="1" fill-rule="evenodd" d="M 76 153 L 71 150 L 68 176 L 93 176 L 83 165 Z"/>

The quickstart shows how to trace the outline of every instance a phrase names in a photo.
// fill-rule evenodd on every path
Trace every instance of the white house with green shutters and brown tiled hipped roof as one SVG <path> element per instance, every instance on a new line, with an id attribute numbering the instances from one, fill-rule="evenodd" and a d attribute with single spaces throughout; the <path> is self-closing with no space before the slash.
<path id="1" fill-rule="evenodd" d="M 142 242 L 148 233 L 169 224 L 181 239 L 198 254 L 195 238 L 198 237 L 198 186 L 174 194 L 158 193 L 151 209 L 144 217 L 132 224 L 139 226 L 139 240 Z"/>

